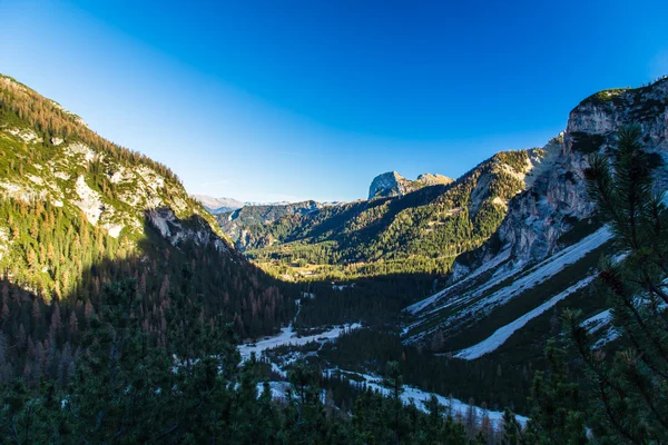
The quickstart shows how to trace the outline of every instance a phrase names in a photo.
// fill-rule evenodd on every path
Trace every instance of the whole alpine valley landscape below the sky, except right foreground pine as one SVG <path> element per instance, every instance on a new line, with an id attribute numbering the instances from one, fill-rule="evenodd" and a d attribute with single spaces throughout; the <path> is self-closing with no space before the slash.
<path id="1" fill-rule="evenodd" d="M 591 171 L 629 128 L 647 188 L 666 190 L 662 78 L 597 92 L 543 147 L 454 180 L 391 171 L 364 200 L 244 205 L 188 196 L 0 77 L 0 443 L 611 436 L 581 414 L 597 394 L 581 368 L 635 340 L 598 279 L 635 250 Z M 561 330 L 574 313 L 584 359 Z M 647 431 L 659 439 L 636 443 L 664 443 Z"/>

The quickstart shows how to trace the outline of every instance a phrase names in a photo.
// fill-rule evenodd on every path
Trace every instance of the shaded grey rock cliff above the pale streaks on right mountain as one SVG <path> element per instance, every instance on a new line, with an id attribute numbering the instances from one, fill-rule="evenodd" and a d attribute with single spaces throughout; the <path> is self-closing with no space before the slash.
<path id="1" fill-rule="evenodd" d="M 509 267 L 546 258 L 559 246 L 559 238 L 578 220 L 589 218 L 593 207 L 587 197 L 583 171 L 592 152 L 609 154 L 615 131 L 637 123 L 650 152 L 668 158 L 668 79 L 636 88 L 606 90 L 581 101 L 569 115 L 566 131 L 546 148 L 554 154 L 550 168 L 538 171 L 533 184 L 509 202 L 499 227 L 502 250 L 510 248 Z M 668 169 L 657 169 L 661 189 L 668 185 Z M 473 263 L 455 263 L 453 281 L 493 259 L 498 244 L 483 246 Z"/>

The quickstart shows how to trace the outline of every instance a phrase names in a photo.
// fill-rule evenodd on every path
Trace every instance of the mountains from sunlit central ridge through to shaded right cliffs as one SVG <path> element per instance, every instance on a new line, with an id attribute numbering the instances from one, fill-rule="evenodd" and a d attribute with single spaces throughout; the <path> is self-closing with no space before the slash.
<path id="1" fill-rule="evenodd" d="M 411 189 L 389 172 L 374 179 L 369 200 L 248 225 L 232 214 L 218 220 L 247 257 L 283 278 L 441 275 L 442 290 L 405 307 L 404 344 L 464 359 L 538 360 L 567 306 L 596 320 L 601 345 L 615 337 L 590 286 L 612 234 L 593 211 L 583 171 L 631 123 L 665 190 L 668 79 L 597 92 L 544 147 L 500 152 L 453 182 Z"/>

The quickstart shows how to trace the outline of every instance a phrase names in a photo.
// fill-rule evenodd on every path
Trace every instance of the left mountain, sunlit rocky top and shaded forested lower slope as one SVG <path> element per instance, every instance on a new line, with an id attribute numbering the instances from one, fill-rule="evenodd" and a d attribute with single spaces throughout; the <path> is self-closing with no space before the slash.
<path id="1" fill-rule="evenodd" d="M 271 334 L 294 314 L 282 284 L 237 251 L 167 167 L 0 77 L 0 343 L 11 346 L 0 374 L 39 379 L 60 367 L 67 377 L 104 309 L 105 284 L 125 278 L 137 283 L 147 338 L 164 344 L 184 267 L 197 271 L 193 293 L 206 296 L 203 319 L 223 317 L 243 337 Z M 26 360 L 37 344 L 51 352 L 48 369 Z"/>

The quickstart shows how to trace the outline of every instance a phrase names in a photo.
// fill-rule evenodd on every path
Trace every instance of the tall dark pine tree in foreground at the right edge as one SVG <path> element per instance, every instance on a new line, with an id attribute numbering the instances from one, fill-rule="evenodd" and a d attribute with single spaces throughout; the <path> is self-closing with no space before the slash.
<path id="1" fill-rule="evenodd" d="M 595 350 L 579 312 L 566 316 L 596 399 L 591 427 L 602 441 L 668 442 L 668 211 L 654 192 L 652 168 L 660 158 L 641 149 L 641 130 L 619 130 L 610 161 L 590 158 L 586 177 L 591 199 L 626 259 L 603 259 L 599 280 L 621 335 L 610 360 Z"/>

